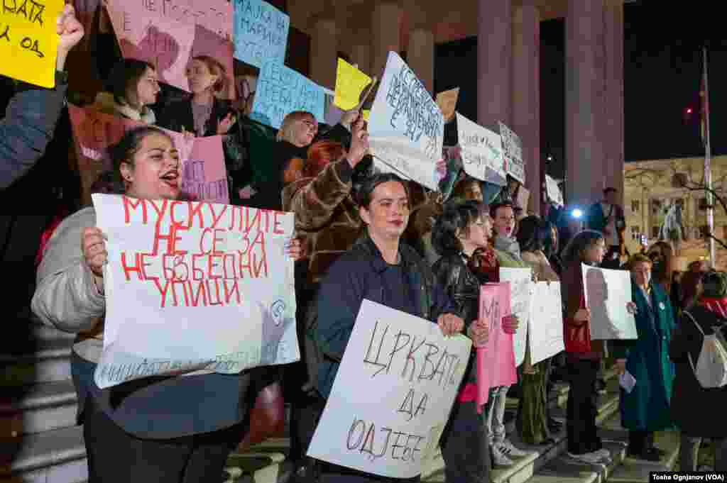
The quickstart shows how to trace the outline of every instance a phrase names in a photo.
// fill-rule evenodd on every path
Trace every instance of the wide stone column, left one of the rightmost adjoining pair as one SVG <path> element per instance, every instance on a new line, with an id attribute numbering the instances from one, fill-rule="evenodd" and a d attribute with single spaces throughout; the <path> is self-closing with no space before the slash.
<path id="1" fill-rule="evenodd" d="M 569 0 L 566 15 L 566 198 L 587 206 L 604 185 L 603 0 Z"/>

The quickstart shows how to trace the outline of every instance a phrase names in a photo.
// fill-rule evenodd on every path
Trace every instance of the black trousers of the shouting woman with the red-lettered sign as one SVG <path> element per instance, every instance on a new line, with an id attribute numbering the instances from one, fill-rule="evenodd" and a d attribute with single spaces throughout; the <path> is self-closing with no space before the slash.
<path id="1" fill-rule="evenodd" d="M 92 399 L 84 407 L 89 483 L 220 483 L 225 461 L 246 427 L 241 423 L 188 437 L 140 439 L 121 429 Z"/>

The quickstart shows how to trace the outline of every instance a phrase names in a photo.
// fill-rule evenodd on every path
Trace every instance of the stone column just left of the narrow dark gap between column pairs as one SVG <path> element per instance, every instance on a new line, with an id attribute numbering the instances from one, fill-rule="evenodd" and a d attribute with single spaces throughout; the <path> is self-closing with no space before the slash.
<path id="1" fill-rule="evenodd" d="M 534 4 L 525 3 L 513 15 L 512 128 L 523 142 L 527 210 L 541 214 L 540 14 Z"/>

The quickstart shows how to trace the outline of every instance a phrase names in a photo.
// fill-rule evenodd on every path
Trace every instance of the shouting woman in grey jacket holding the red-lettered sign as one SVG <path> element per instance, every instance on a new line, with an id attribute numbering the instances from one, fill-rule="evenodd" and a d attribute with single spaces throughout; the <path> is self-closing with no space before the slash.
<path id="1" fill-rule="evenodd" d="M 180 196 L 180 156 L 161 129 L 132 129 L 111 152 L 126 195 L 136 198 L 129 200 L 156 207 L 155 201 Z M 256 395 L 254 381 L 249 373 L 205 371 L 100 389 L 95 371 L 106 349 L 105 288 L 111 282 L 104 277 L 109 259 L 105 235 L 96 224 L 95 208 L 84 208 L 57 227 L 39 267 L 32 302 L 33 312 L 45 323 L 78 334 L 71 370 L 84 423 L 89 482 L 217 483 L 231 447 L 242 437 L 241 423 Z M 300 243 L 292 243 L 289 254 L 300 256 Z M 142 313 L 148 307 L 124 309 Z M 170 331 L 169 345 L 185 345 L 182 336 Z M 150 364 L 145 360 L 143 365 Z"/>

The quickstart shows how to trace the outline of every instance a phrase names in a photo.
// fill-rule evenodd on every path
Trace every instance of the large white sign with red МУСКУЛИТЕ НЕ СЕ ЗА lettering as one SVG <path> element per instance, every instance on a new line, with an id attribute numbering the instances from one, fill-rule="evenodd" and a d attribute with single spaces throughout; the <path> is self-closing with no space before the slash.
<path id="1" fill-rule="evenodd" d="M 300 358 L 293 215 L 244 206 L 93 195 L 108 237 L 95 381 L 239 373 Z"/>

